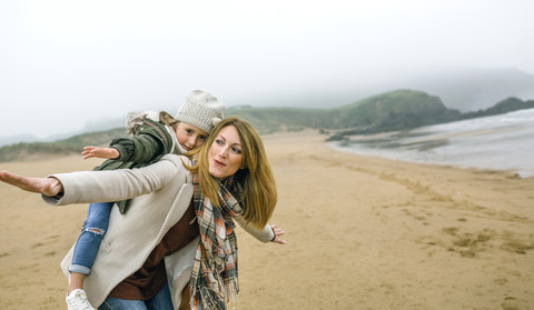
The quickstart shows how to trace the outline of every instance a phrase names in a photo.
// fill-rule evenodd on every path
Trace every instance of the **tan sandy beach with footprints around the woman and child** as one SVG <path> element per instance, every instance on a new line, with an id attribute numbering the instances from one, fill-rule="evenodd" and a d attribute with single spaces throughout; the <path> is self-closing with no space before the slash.
<path id="1" fill-rule="evenodd" d="M 360 157 L 315 131 L 264 137 L 286 246 L 238 230 L 229 309 L 534 309 L 534 178 Z M 0 169 L 42 177 L 80 157 Z M 87 206 L 0 184 L 0 309 L 66 309 L 59 263 Z"/>

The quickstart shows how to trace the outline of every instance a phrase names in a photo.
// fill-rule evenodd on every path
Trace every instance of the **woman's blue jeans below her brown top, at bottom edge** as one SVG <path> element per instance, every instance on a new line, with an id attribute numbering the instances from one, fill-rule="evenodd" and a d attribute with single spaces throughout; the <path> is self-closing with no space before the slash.
<path id="1" fill-rule="evenodd" d="M 172 310 L 170 290 L 167 282 L 159 292 L 149 300 L 126 300 L 108 297 L 99 310 Z"/>

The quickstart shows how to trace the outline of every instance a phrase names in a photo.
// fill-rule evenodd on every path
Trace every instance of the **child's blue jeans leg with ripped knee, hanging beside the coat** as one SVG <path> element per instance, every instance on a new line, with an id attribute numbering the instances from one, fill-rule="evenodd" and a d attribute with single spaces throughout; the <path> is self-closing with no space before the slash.
<path id="1" fill-rule="evenodd" d="M 89 274 L 103 234 L 108 230 L 109 214 L 115 202 L 91 203 L 87 209 L 80 237 L 76 242 L 70 272 Z"/>

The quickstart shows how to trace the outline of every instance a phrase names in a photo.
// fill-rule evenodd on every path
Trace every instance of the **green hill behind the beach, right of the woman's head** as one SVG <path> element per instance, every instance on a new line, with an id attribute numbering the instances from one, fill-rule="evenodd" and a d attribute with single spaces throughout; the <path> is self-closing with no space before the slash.
<path id="1" fill-rule="evenodd" d="M 265 132 L 304 127 L 376 132 L 451 121 L 461 113 L 447 109 L 437 97 L 397 90 L 328 110 L 240 107 L 226 114 L 247 119 Z"/>

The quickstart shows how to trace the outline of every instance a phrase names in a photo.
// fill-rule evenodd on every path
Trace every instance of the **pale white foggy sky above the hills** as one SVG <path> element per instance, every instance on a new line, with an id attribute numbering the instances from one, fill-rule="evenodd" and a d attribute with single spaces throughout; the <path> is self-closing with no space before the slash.
<path id="1" fill-rule="evenodd" d="M 316 108 L 445 68 L 534 73 L 533 3 L 1 1 L 0 137 L 174 114 L 195 89 L 227 106 Z"/>

